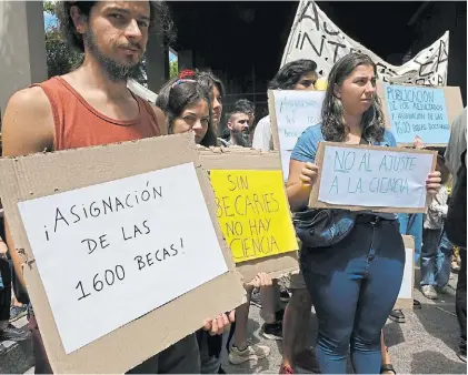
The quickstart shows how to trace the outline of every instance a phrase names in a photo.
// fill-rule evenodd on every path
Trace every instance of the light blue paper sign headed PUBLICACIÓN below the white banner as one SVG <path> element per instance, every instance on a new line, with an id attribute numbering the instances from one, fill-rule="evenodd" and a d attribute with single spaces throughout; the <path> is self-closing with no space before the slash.
<path id="1" fill-rule="evenodd" d="M 384 84 L 391 132 L 397 143 L 447 144 L 450 125 L 444 89 Z"/>

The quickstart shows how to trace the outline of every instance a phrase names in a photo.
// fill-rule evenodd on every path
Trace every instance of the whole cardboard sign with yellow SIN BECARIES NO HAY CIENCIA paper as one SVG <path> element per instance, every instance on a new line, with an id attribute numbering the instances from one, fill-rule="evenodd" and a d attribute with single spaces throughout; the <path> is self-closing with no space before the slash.
<path id="1" fill-rule="evenodd" d="M 272 278 L 299 268 L 298 243 L 278 152 L 199 148 L 210 171 L 217 213 L 245 282 L 259 272 Z"/>

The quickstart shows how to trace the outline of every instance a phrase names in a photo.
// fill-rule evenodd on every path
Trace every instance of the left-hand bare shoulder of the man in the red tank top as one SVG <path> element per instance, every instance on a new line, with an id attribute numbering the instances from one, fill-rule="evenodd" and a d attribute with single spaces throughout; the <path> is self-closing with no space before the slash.
<path id="1" fill-rule="evenodd" d="M 3 155 L 23 155 L 51 149 L 54 124 L 49 99 L 39 87 L 17 91 L 2 121 Z"/>

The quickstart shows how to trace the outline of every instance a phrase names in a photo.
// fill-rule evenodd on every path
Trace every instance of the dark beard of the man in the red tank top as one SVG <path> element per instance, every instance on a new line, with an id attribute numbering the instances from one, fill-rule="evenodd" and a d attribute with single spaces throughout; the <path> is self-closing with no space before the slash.
<path id="1" fill-rule="evenodd" d="M 126 82 L 128 78 L 137 77 L 137 72 L 140 69 L 139 63 L 128 65 L 108 58 L 99 48 L 92 30 L 83 34 L 83 42 L 111 81 Z"/>

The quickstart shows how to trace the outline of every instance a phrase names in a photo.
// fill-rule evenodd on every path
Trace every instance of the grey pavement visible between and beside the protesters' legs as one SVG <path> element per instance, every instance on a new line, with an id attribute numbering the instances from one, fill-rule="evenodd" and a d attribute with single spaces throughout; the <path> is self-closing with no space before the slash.
<path id="1" fill-rule="evenodd" d="M 418 282 L 418 270 L 416 281 Z M 406 323 L 390 320 L 384 328 L 386 345 L 391 363 L 398 374 L 467 374 L 467 365 L 457 353 L 460 328 L 455 314 L 455 288 L 457 275 L 452 274 L 449 284 L 450 295 L 439 295 L 439 300 L 427 300 L 415 288 L 415 298 L 421 303 L 420 310 L 404 311 Z M 262 320 L 260 310 L 250 306 L 248 332 L 251 342 L 267 345 L 270 355 L 258 363 L 231 365 L 223 356 L 223 368 L 228 374 L 278 374 L 281 363 L 281 342 L 265 339 L 260 336 Z M 317 320 L 312 314 L 308 327 L 309 343 L 313 346 L 317 336 Z M 348 373 L 352 372 L 348 358 Z M 300 373 L 300 369 L 299 369 Z"/>

